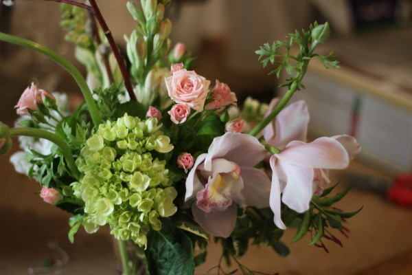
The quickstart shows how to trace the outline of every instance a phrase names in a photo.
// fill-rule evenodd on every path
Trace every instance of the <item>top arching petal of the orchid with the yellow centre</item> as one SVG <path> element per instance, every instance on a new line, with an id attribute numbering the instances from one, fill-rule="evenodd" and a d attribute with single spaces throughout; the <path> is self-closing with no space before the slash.
<path id="1" fill-rule="evenodd" d="M 266 156 L 266 149 L 256 137 L 227 132 L 215 137 L 207 151 L 205 170 L 211 170 L 211 159 L 225 158 L 239 166 L 255 166 Z"/>

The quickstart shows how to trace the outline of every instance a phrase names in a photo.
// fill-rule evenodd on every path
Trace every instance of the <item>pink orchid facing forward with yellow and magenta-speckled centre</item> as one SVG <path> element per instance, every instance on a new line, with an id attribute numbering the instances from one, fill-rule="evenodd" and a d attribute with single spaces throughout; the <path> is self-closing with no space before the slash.
<path id="1" fill-rule="evenodd" d="M 185 199 L 196 197 L 194 219 L 209 234 L 231 234 L 236 224 L 236 203 L 269 206 L 271 181 L 262 170 L 253 168 L 266 153 L 257 138 L 227 132 L 213 140 L 207 153 L 197 157 L 187 176 Z"/>

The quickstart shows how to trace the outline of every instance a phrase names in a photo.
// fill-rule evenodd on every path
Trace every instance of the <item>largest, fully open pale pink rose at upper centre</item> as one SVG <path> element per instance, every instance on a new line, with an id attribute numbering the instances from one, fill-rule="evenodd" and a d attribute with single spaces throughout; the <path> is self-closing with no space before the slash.
<path id="1" fill-rule="evenodd" d="M 176 103 L 185 104 L 196 111 L 203 111 L 209 92 L 209 80 L 194 71 L 181 69 L 165 78 L 165 83 L 170 98 Z"/>

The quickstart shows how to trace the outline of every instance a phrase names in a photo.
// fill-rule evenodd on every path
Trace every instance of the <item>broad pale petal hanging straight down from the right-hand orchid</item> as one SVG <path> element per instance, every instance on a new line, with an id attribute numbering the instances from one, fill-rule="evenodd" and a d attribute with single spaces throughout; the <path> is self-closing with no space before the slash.
<path id="1" fill-rule="evenodd" d="M 309 209 L 312 199 L 313 169 L 279 162 L 277 168 L 284 171 L 287 177 L 286 186 L 282 193 L 282 201 L 299 213 Z"/>

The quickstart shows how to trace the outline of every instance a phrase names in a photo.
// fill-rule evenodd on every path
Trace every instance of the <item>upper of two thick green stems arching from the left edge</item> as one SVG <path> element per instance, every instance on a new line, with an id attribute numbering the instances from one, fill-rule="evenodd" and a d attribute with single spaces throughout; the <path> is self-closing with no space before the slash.
<path id="1" fill-rule="evenodd" d="M 69 74 L 73 76 L 74 80 L 76 80 L 76 83 L 78 83 L 78 86 L 80 87 L 80 90 L 83 93 L 84 100 L 86 100 L 87 106 L 89 107 L 88 109 L 91 115 L 91 119 L 93 120 L 93 124 L 95 125 L 100 124 L 102 119 L 100 118 L 98 107 L 95 104 L 95 100 L 93 99 L 89 86 L 87 86 L 87 83 L 84 80 L 82 74 L 80 74 L 78 69 L 76 69 L 76 67 L 74 67 L 73 64 L 71 64 L 65 58 L 60 56 L 60 54 L 57 54 L 56 52 L 49 49 L 48 47 L 45 47 L 43 45 L 40 45 L 38 43 L 35 43 L 27 39 L 22 39 L 17 36 L 13 36 L 10 34 L 4 34 L 3 32 L 0 32 L 0 41 L 5 41 L 8 43 L 27 47 L 31 50 L 35 50 L 36 52 L 40 52 L 41 54 L 44 54 L 45 56 L 51 58 L 53 61 L 58 63 L 58 65 L 65 68 L 67 72 L 69 72 Z"/>

